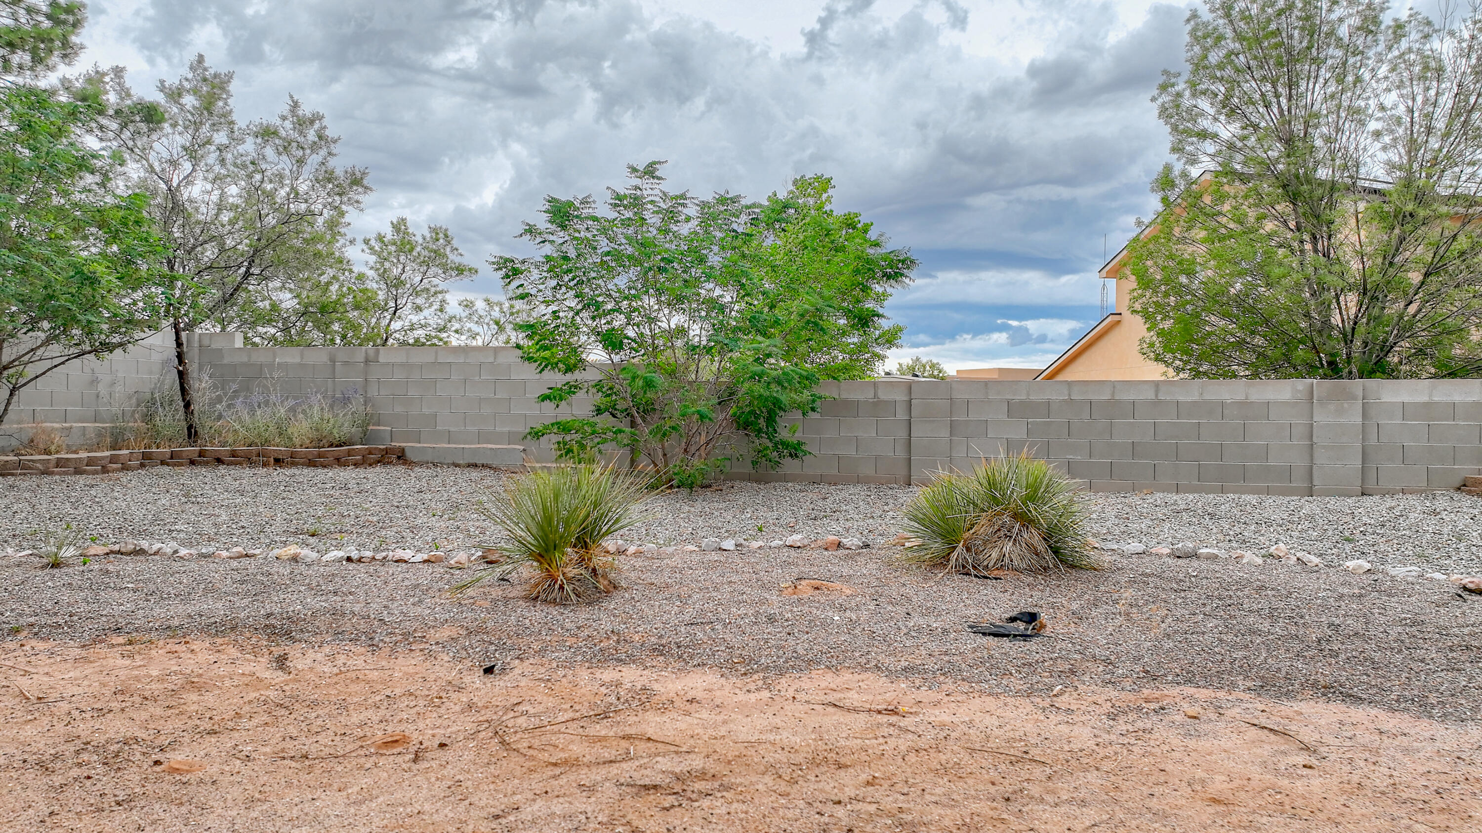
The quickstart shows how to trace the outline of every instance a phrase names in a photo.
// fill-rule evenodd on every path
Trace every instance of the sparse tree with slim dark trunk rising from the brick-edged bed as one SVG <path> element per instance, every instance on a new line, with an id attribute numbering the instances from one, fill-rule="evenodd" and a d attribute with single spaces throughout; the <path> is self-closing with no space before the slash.
<path id="1" fill-rule="evenodd" d="M 323 114 L 289 96 L 277 117 L 239 125 L 231 80 L 197 55 L 178 82 L 159 83 L 156 99 L 129 89 L 122 68 L 68 84 L 104 107 L 98 129 L 123 159 L 130 187 L 150 196 L 165 265 L 181 276 L 169 326 L 191 442 L 199 430 L 184 333 L 203 325 L 259 336 L 301 332 L 325 296 L 323 277 L 342 271 L 347 215 L 370 191 L 365 169 L 335 165 L 339 138 Z M 265 320 L 274 310 L 301 320 Z"/>

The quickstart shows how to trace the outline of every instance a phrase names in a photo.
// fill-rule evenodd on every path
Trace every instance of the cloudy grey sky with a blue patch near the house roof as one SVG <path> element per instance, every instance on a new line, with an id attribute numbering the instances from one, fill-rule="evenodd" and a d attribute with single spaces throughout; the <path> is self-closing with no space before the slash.
<path id="1" fill-rule="evenodd" d="M 525 253 L 544 194 L 665 159 L 670 185 L 753 197 L 834 178 L 922 261 L 889 304 L 901 356 L 1043 366 L 1097 317 L 1103 234 L 1149 215 L 1168 138 L 1149 96 L 1186 6 L 1117 0 L 90 0 L 79 67 L 136 89 L 191 56 L 242 119 L 289 93 L 397 215 L 470 261 Z M 488 270 L 461 291 L 498 293 Z"/>

